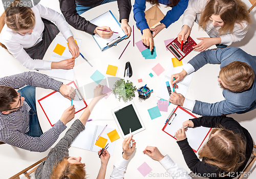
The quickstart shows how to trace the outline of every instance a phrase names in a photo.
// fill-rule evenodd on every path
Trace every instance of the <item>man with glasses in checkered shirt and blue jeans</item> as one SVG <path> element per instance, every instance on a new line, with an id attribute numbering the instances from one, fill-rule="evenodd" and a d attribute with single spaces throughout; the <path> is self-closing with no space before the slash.
<path id="1" fill-rule="evenodd" d="M 73 105 L 65 110 L 56 124 L 42 134 L 36 114 L 35 87 L 59 91 L 70 100 L 75 97 L 72 87 L 45 74 L 29 71 L 0 78 L 0 141 L 43 152 L 53 145 L 66 129 L 66 124 L 74 118 L 75 108 Z"/>

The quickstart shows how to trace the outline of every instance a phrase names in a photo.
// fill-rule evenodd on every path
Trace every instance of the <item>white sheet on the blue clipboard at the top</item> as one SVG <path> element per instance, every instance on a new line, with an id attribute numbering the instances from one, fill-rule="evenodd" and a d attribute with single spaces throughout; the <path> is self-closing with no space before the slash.
<path id="1" fill-rule="evenodd" d="M 110 29 L 114 32 L 118 32 L 118 34 L 113 33 L 111 38 L 109 39 L 103 39 L 99 35 L 95 34 L 93 37 L 100 46 L 100 48 L 106 47 L 107 43 L 111 42 L 112 40 L 116 39 L 117 37 L 123 37 L 125 36 L 123 30 L 121 29 L 119 23 L 116 21 L 116 19 L 113 17 L 113 15 L 110 13 L 110 11 L 105 12 L 104 14 L 96 17 L 95 19 L 90 21 L 91 23 L 97 25 L 98 27 L 110 27 Z"/>

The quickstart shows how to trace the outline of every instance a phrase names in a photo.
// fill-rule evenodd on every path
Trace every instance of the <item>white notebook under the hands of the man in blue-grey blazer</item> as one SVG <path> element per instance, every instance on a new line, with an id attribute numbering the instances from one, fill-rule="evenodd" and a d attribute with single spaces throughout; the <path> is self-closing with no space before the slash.
<path id="1" fill-rule="evenodd" d="M 163 81 L 162 81 L 162 83 L 160 85 L 160 88 L 158 90 L 157 97 L 160 97 L 160 98 L 165 99 L 165 100 L 169 100 L 170 95 L 168 93 L 165 82 L 169 82 L 169 84 L 170 84 L 170 79 L 171 79 L 172 74 L 176 74 L 176 73 L 181 72 L 183 70 L 183 65 L 178 66 L 178 67 L 173 67 L 173 63 L 172 63 L 172 61 L 170 61 L 169 65 L 168 65 L 168 68 L 165 71 Z M 190 82 L 193 78 L 193 75 L 194 75 L 194 72 L 190 73 L 189 75 L 186 75 L 185 78 L 182 81 L 177 83 L 177 85 L 179 86 L 178 88 L 175 89 L 177 93 L 180 93 L 183 96 L 186 95 L 188 86 L 189 86 L 189 84 L 190 84 Z M 172 86 L 170 86 L 170 87 L 172 88 Z M 172 88 L 172 92 L 173 92 L 173 88 Z"/>

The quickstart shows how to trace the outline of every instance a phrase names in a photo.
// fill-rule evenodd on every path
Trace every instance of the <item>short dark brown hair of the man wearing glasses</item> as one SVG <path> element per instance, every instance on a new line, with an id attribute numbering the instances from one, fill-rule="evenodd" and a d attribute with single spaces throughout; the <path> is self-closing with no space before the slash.
<path id="1" fill-rule="evenodd" d="M 0 86 L 0 111 L 8 111 L 18 97 L 17 91 L 9 86 Z"/>

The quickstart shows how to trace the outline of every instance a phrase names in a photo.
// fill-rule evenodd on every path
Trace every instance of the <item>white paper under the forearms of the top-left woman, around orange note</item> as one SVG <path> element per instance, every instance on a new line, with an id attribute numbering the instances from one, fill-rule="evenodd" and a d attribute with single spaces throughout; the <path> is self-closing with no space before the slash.
<path id="1" fill-rule="evenodd" d="M 75 39 L 75 40 L 77 42 L 77 45 L 80 48 L 82 40 L 81 39 Z M 65 37 L 57 35 L 56 38 L 55 38 L 55 42 L 54 42 L 54 48 L 56 47 L 57 43 L 62 45 L 62 46 L 65 46 L 66 49 L 64 50 L 64 52 L 61 56 L 52 52 L 51 61 L 52 62 L 59 62 L 61 60 L 72 58 L 72 54 L 69 52 L 69 47 L 68 47 L 68 44 L 67 44 L 68 41 L 65 39 Z M 72 81 L 74 79 L 74 72 L 75 72 L 76 62 L 77 62 L 77 59 L 75 59 L 75 66 L 74 66 L 73 69 L 69 69 L 69 70 L 52 69 L 52 70 L 48 70 L 47 74 L 49 76 L 52 76 L 52 77 L 55 77 L 55 78 Z"/>

